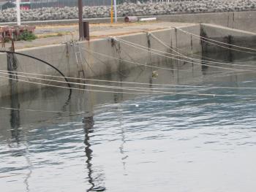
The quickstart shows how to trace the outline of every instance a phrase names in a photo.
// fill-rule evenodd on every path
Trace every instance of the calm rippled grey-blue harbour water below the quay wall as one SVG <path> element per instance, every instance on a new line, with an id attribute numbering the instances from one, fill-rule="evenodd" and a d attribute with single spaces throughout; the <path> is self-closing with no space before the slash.
<path id="1" fill-rule="evenodd" d="M 140 68 L 102 79 L 256 85 L 253 73 L 178 69 L 191 72 L 157 70 L 154 79 L 152 69 Z M 1 191 L 255 191 L 256 90 L 189 91 L 236 96 L 74 91 L 68 99 L 67 90 L 49 88 L 2 99 L 1 107 L 20 110 L 0 110 Z"/>

